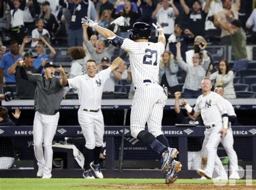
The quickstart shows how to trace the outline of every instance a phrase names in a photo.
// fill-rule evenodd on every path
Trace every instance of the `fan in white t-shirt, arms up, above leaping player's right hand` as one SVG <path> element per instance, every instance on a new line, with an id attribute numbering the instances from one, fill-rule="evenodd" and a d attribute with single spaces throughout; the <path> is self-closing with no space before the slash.
<path id="1" fill-rule="evenodd" d="M 173 0 L 162 0 L 157 4 L 156 10 L 152 13 L 152 18 L 157 19 L 157 23 L 163 27 L 165 38 L 168 39 L 174 31 L 174 22 L 179 10 L 173 3 Z M 158 32 L 156 31 L 156 36 Z"/>

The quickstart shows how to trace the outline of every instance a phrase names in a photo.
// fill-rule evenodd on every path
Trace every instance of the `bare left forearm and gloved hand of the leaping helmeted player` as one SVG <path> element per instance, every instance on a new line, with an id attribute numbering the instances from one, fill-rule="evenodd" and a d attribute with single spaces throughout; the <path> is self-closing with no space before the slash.
<path id="1" fill-rule="evenodd" d="M 83 25 L 87 25 L 92 27 L 93 29 L 95 29 L 101 36 L 103 36 L 104 38 L 108 39 L 108 38 L 113 38 L 115 36 L 117 36 L 114 32 L 112 32 L 109 29 L 105 29 L 104 27 L 101 27 L 98 25 L 98 23 L 95 23 L 93 20 L 91 20 L 89 17 L 84 17 L 82 18 L 82 22 Z"/>

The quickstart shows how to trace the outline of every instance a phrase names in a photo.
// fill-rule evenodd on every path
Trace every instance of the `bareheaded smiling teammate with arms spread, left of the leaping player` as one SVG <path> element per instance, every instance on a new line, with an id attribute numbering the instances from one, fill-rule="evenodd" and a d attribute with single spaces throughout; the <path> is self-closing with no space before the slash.
<path id="1" fill-rule="evenodd" d="M 92 171 L 97 178 L 103 178 L 99 167 L 99 154 L 103 145 L 104 120 L 100 105 L 104 83 L 110 78 L 111 72 L 122 64 L 126 53 L 116 58 L 112 65 L 99 72 L 95 60 L 88 60 L 86 65 L 86 75 L 76 76 L 68 79 L 69 88 L 76 88 L 78 92 L 80 108 L 78 110 L 78 122 L 85 137 L 85 165 L 83 177 L 95 179 Z M 94 159 L 93 159 L 94 158 Z"/>

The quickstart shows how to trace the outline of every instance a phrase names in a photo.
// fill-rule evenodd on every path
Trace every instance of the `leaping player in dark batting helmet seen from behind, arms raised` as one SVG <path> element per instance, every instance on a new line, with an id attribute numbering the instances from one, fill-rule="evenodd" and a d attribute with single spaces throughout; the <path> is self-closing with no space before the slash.
<path id="1" fill-rule="evenodd" d="M 181 170 L 179 161 L 174 160 L 177 149 L 169 147 L 169 142 L 161 131 L 163 108 L 167 99 L 164 89 L 158 85 L 160 55 L 165 50 L 165 36 L 159 24 L 153 26 L 159 32 L 158 43 L 149 42 L 151 27 L 146 23 L 134 23 L 130 39 L 121 38 L 98 23 L 85 17 L 82 23 L 93 27 L 101 36 L 107 38 L 113 46 L 129 53 L 132 79 L 136 92 L 131 110 L 131 135 L 149 144 L 162 156 L 161 171 L 166 172 L 166 184 L 177 179 Z M 145 130 L 147 122 L 149 131 Z"/>

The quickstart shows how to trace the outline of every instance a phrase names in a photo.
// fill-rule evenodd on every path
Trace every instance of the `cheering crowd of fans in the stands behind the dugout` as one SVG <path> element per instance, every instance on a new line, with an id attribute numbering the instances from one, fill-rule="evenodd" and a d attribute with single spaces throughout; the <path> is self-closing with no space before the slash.
<path id="1" fill-rule="evenodd" d="M 255 97 L 256 79 L 252 70 L 256 66 L 246 49 L 247 44 L 256 41 L 254 3 L 240 0 L 3 0 L 0 82 L 2 86 L 12 85 L 17 98 L 32 98 L 33 93 L 29 96 L 25 93 L 26 86 L 19 82 L 18 74 L 9 69 L 23 59 L 39 73 L 43 73 L 45 60 L 53 60 L 57 65 L 64 65 L 68 78 L 86 74 L 86 61 L 90 59 L 96 60 L 98 71 L 109 67 L 122 51 L 109 45 L 95 30 L 82 26 L 81 19 L 88 16 L 123 38 L 129 38 L 127 30 L 136 22 L 159 23 L 167 41 L 161 57 L 159 84 L 169 89 L 170 98 L 174 98 L 176 91 L 183 92 L 184 97 L 197 97 L 201 94 L 200 81 L 204 76 L 211 78 L 213 86 L 223 86 L 227 98 Z M 153 30 L 151 41 L 157 38 L 158 32 Z M 219 49 L 214 49 L 216 45 Z M 6 51 L 5 46 L 10 51 Z M 126 58 L 112 73 L 105 84 L 103 98 L 133 97 L 129 66 Z M 20 90 L 22 85 L 25 90 Z M 66 88 L 64 97 L 77 98 L 76 89 Z"/>

